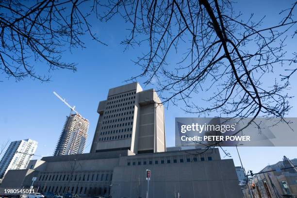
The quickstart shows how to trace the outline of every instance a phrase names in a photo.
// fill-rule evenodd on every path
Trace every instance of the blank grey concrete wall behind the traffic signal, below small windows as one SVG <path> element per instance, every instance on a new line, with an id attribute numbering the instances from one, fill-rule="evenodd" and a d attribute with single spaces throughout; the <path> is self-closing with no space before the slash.
<path id="1" fill-rule="evenodd" d="M 232 160 L 116 166 L 112 197 L 145 198 L 146 169 L 151 170 L 152 198 L 174 198 L 178 193 L 182 198 L 242 198 Z"/>

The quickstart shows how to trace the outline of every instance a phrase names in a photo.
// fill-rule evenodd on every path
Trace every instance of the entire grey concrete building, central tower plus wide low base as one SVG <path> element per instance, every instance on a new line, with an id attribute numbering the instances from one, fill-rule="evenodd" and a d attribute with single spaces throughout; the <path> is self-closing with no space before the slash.
<path id="1" fill-rule="evenodd" d="M 99 102 L 90 153 L 43 157 L 8 171 L 1 187 L 34 187 L 82 197 L 242 198 L 231 159 L 217 148 L 166 151 L 164 107 L 153 89 L 135 82 L 109 90 Z M 21 177 L 20 177 L 21 176 Z"/>

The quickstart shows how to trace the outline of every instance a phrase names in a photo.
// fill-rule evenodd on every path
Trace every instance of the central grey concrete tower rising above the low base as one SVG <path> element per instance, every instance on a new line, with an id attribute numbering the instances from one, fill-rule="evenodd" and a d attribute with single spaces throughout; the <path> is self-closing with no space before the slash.
<path id="1" fill-rule="evenodd" d="M 99 120 L 90 152 L 165 151 L 164 107 L 154 89 L 143 91 L 138 82 L 109 89 L 97 112 Z"/>

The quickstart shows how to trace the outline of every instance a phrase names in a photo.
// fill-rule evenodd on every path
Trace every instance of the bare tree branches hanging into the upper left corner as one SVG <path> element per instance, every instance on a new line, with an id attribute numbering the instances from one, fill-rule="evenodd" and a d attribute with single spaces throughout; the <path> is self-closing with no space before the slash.
<path id="1" fill-rule="evenodd" d="M 84 34 L 99 41 L 88 20 L 91 14 L 97 16 L 97 4 L 97 0 L 1 0 L 0 80 L 32 77 L 43 82 L 49 81 L 47 70 L 76 71 L 75 63 L 62 60 L 64 46 L 83 48 Z"/>

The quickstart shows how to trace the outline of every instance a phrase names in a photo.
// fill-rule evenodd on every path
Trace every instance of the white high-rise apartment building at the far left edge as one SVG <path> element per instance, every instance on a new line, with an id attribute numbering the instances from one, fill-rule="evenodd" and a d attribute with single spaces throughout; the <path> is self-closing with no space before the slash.
<path id="1" fill-rule="evenodd" d="M 11 142 L 0 161 L 0 178 L 8 170 L 25 169 L 37 148 L 37 142 L 31 139 Z"/>

